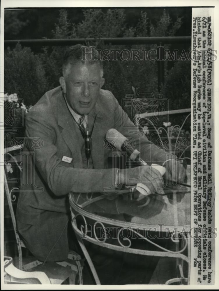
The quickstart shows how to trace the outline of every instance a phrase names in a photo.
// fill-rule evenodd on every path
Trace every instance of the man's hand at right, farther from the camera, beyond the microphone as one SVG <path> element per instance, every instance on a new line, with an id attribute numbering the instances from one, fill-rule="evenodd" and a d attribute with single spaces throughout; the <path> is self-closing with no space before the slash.
<path id="1" fill-rule="evenodd" d="M 183 167 L 183 160 L 170 159 L 167 161 L 166 178 L 177 184 L 184 182 L 186 178 L 186 170 Z"/>

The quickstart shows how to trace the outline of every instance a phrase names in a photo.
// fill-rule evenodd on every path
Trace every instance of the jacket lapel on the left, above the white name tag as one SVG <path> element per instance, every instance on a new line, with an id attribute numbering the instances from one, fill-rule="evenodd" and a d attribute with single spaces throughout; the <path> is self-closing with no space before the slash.
<path id="1" fill-rule="evenodd" d="M 72 152 L 73 164 L 75 168 L 83 168 L 80 139 L 83 140 L 80 129 L 68 110 L 63 95 L 57 98 L 58 125 L 63 128 L 61 135 Z"/>

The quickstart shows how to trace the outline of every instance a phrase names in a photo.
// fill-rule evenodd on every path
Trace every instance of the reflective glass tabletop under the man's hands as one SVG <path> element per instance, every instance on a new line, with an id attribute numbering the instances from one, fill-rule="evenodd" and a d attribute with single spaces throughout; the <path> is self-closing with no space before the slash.
<path id="1" fill-rule="evenodd" d="M 187 177 L 187 184 L 190 184 L 190 168 L 187 169 Z M 86 210 L 89 214 L 109 220 L 132 223 L 133 226 L 155 226 L 162 231 L 165 231 L 165 227 L 188 231 L 190 188 L 169 185 L 164 190 L 165 195 L 148 196 L 127 188 L 111 193 L 72 193 L 70 201 L 73 200 L 78 212 L 80 209 Z"/>

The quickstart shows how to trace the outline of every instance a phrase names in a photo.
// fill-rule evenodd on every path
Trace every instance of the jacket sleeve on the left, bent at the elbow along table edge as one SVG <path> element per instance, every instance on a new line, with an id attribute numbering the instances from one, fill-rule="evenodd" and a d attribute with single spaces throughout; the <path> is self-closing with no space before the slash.
<path id="1" fill-rule="evenodd" d="M 45 114 L 40 114 L 36 110 L 28 113 L 25 145 L 29 150 L 34 150 L 34 166 L 51 191 L 57 196 L 66 195 L 70 191 L 82 193 L 103 192 L 106 189 L 113 191 L 116 170 L 87 170 L 62 165 L 55 145 L 57 129 L 55 130 L 48 120 L 48 116 L 45 117 Z"/>

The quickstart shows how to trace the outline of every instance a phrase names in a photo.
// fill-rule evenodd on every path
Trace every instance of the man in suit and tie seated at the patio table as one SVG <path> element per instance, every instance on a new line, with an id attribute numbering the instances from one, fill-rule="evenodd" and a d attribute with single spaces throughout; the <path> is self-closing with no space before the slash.
<path id="1" fill-rule="evenodd" d="M 133 123 L 114 95 L 102 89 L 105 82 L 102 62 L 93 60 L 88 54 L 90 48 L 87 49 L 76 45 L 67 50 L 61 86 L 46 92 L 26 118 L 24 143 L 29 159 L 24 167 L 26 173 L 33 169 L 33 177 L 32 181 L 30 176 L 23 178 L 26 182 L 19 195 L 17 224 L 28 249 L 42 261 L 67 258 L 70 191 L 103 192 L 110 187 L 114 191 L 119 180 L 133 184 L 130 178 L 149 182 L 152 193 L 163 187 L 159 171 L 150 166 L 128 169 L 126 175 L 116 169 L 117 176 L 107 168 L 109 150 L 103 141 L 110 128 L 135 139 L 135 147 L 149 165 L 165 162 L 165 152 L 144 134 L 129 132 Z M 92 52 L 97 56 L 95 50 Z M 86 127 L 93 128 L 89 161 L 83 137 Z M 35 148 L 34 141 L 39 143 Z"/>

